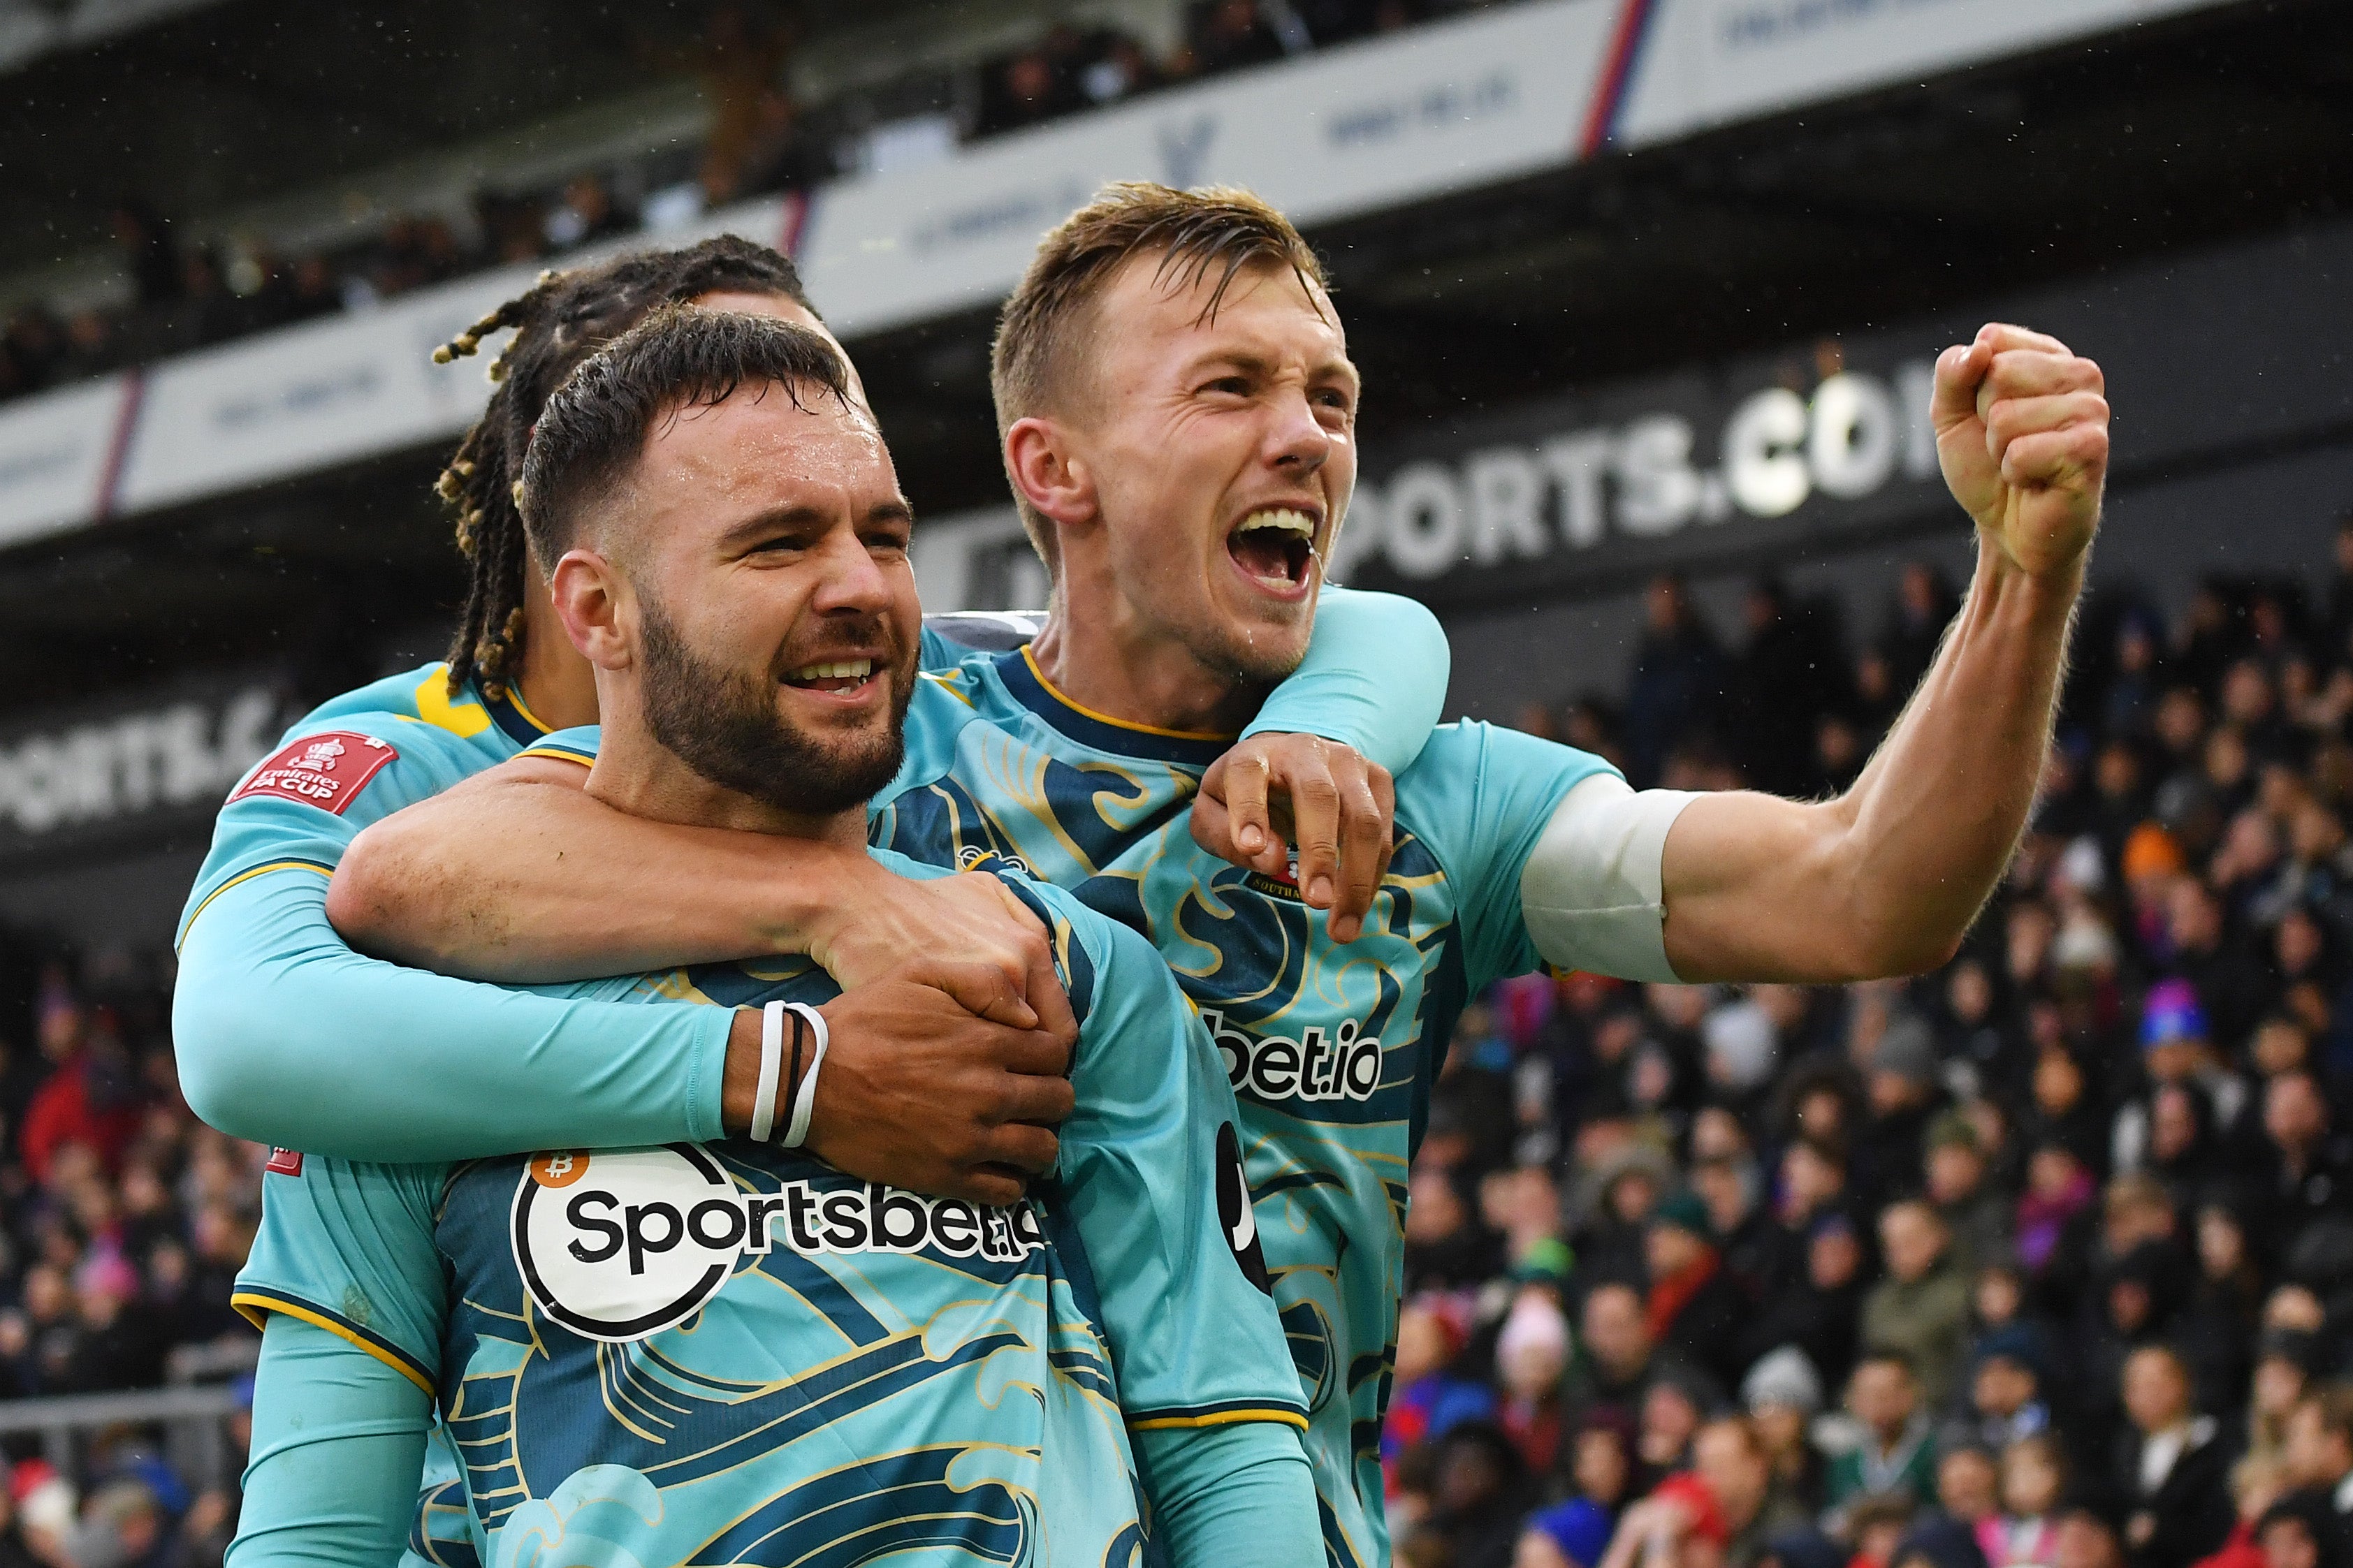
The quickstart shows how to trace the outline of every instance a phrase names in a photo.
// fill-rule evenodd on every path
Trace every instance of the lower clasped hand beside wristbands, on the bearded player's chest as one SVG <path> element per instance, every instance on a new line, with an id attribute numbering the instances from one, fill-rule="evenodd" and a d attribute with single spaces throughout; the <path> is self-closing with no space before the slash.
<path id="1" fill-rule="evenodd" d="M 819 1009 L 828 1046 L 807 1150 L 868 1182 L 1014 1204 L 1054 1168 L 1071 1114 L 1071 1044 L 976 1018 L 904 976 Z M 779 1107 L 779 1126 L 784 1126 Z"/>

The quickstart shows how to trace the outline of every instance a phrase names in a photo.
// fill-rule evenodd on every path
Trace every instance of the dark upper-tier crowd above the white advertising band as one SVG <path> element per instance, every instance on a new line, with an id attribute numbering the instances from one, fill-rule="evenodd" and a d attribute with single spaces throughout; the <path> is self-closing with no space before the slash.
<path id="1" fill-rule="evenodd" d="M 581 169 L 544 188 L 485 186 L 459 216 L 398 214 L 365 237 L 299 254 L 280 254 L 264 240 L 184 242 L 153 205 L 120 202 L 113 235 L 129 296 L 113 308 L 56 310 L 40 301 L 14 308 L 0 329 L 0 402 L 252 331 L 365 310 L 482 268 L 664 228 L 706 207 L 809 190 L 859 167 L 864 134 L 899 99 L 951 103 L 953 139 L 979 141 L 1487 2 L 1200 0 L 1188 9 L 1186 40 L 1165 56 L 1115 28 L 1059 24 L 1028 47 L 974 63 L 962 82 L 948 73 L 819 106 L 795 101 L 784 87 L 788 31 L 753 7 L 720 5 L 675 61 L 699 75 L 711 106 L 701 148 Z"/>

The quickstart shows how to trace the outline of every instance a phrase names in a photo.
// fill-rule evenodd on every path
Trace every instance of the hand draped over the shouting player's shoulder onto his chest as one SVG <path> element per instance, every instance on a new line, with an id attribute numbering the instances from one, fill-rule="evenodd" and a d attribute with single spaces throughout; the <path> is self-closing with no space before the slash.
<path id="1" fill-rule="evenodd" d="M 1353 943 L 1388 875 L 1398 792 L 1388 769 L 1322 736 L 1249 736 L 1209 764 L 1193 802 L 1193 842 L 1268 877 L 1289 872 L 1299 896 L 1329 910 L 1325 929 Z"/>

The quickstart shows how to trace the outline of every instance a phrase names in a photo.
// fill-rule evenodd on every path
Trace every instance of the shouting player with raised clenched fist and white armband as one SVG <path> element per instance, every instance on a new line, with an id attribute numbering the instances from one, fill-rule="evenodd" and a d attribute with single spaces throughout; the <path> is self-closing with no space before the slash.
<path id="1" fill-rule="evenodd" d="M 1355 482 L 1358 376 L 1313 252 L 1245 193 L 1113 188 L 1040 244 L 993 369 L 1052 611 L 1033 646 L 944 677 L 986 726 L 946 778 L 887 799 L 875 842 L 1019 856 L 1153 936 L 1240 1098 L 1327 1554 L 1381 1563 L 1405 1173 L 1457 1011 L 1539 961 L 1840 983 L 1951 957 L 2049 738 L 2106 475 L 2099 367 L 2019 327 L 1939 357 L 1939 458 L 1977 524 L 1977 578 L 1842 797 L 1633 792 L 1598 757 L 1442 726 L 1398 776 L 1395 858 L 1348 947 L 1297 900 L 1280 844 L 1235 830 L 1259 856 L 1238 870 L 1195 844 L 1221 844 L 1214 813 L 1195 811 L 1193 837 L 1172 820 L 1231 771 L 1217 736 L 1306 644 Z M 725 877 L 708 842 L 621 820 L 576 769 L 548 788 L 562 783 L 555 764 L 511 764 L 388 818 L 372 830 L 384 853 L 362 837 L 334 900 L 362 940 L 412 952 L 456 931 L 567 950 L 600 922 L 633 926 L 642 889 L 595 856 L 560 858 L 565 844 L 628 837 L 631 863 L 680 886 Z M 405 879 L 407 835 L 464 860 Z M 569 910 L 569 933 L 525 929 L 515 907 Z"/>

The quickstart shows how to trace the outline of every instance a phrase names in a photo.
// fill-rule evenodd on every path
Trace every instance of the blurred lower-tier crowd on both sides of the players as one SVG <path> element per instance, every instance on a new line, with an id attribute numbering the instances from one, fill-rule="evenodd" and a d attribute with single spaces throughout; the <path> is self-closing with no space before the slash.
<path id="1" fill-rule="evenodd" d="M 1760 583 L 1727 649 L 1661 581 L 1624 701 L 1522 726 L 1838 788 L 1951 609 L 1913 567 L 1852 649 Z M 1409 1178 L 1398 1561 L 2353 1568 L 2348 811 L 2353 520 L 2325 585 L 2094 599 L 1944 971 L 1475 1001 Z M 167 961 L 0 990 L 0 1399 L 235 1366 L 266 1152 L 181 1103 Z M 235 1490 L 158 1436 L 7 1439 L 0 1568 L 216 1563 Z"/>

